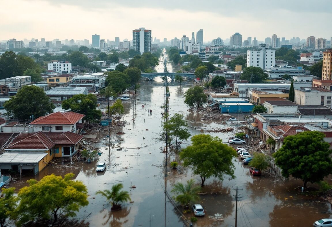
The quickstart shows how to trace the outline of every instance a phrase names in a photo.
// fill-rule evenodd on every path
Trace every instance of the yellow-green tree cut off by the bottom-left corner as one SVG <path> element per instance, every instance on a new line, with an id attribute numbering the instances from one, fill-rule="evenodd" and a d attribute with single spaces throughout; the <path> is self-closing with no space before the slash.
<path id="1" fill-rule="evenodd" d="M 17 197 L 14 196 L 15 188 L 2 189 L 0 195 L 0 227 L 5 227 L 6 220 L 11 218 L 17 206 Z"/>

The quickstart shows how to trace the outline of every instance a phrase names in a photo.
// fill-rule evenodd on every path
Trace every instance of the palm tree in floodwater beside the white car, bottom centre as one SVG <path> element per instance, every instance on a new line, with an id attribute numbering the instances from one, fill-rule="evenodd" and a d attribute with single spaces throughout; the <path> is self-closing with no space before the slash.
<path id="1" fill-rule="evenodd" d="M 171 192 L 177 194 L 175 196 L 175 201 L 180 203 L 183 207 L 187 208 L 192 202 L 195 202 L 200 199 L 198 193 L 201 191 L 200 186 L 194 186 L 194 179 L 187 181 L 187 185 L 182 183 L 176 183 Z"/>

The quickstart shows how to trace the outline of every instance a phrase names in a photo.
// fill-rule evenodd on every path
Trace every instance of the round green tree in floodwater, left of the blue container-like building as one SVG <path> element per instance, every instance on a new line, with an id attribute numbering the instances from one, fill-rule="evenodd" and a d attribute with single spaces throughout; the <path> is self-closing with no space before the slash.
<path id="1" fill-rule="evenodd" d="M 194 108 L 195 106 L 197 109 L 207 103 L 207 95 L 204 94 L 204 88 L 200 86 L 195 86 L 192 88 L 189 88 L 185 92 L 185 104 L 187 104 L 190 108 Z"/>

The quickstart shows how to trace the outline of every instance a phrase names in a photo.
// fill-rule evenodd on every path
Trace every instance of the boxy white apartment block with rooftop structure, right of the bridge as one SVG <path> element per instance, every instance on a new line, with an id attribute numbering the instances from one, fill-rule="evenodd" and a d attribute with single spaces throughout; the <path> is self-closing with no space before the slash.
<path id="1" fill-rule="evenodd" d="M 275 66 L 276 50 L 266 47 L 266 44 L 259 44 L 258 50 L 247 51 L 247 67 L 254 66 L 262 69 L 269 69 Z"/>

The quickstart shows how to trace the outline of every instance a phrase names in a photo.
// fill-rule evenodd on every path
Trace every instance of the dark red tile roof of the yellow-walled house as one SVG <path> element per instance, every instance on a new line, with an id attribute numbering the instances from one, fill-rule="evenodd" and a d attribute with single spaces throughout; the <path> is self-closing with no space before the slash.
<path id="1" fill-rule="evenodd" d="M 0 133 L 2 134 L 2 133 Z M 83 135 L 73 132 L 36 132 L 20 133 L 6 149 L 41 149 L 49 150 L 55 145 L 74 145 Z"/>

